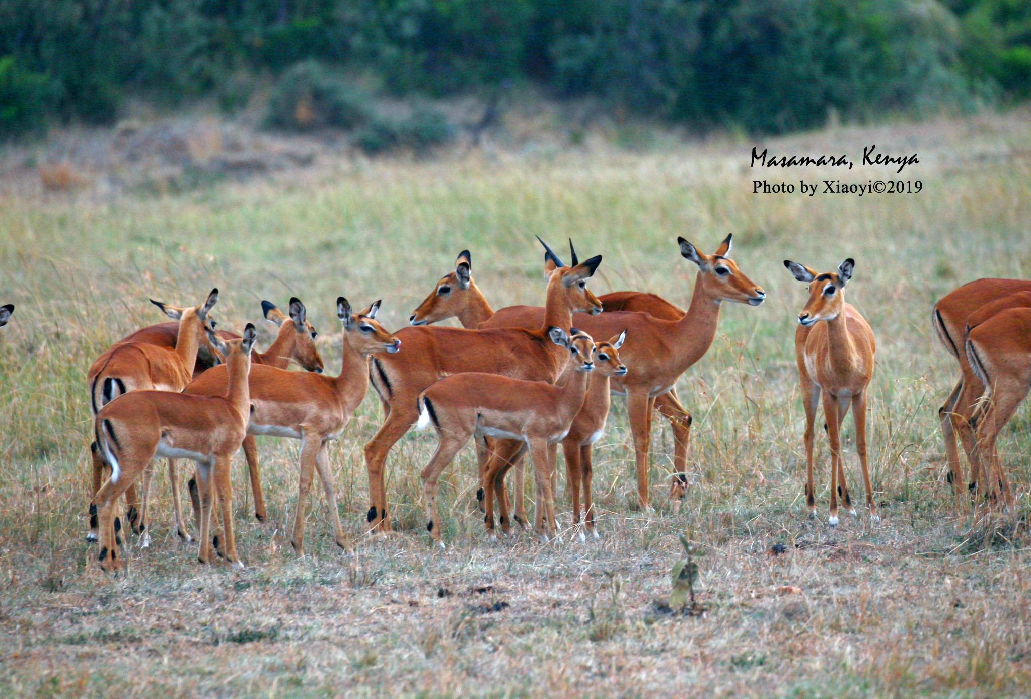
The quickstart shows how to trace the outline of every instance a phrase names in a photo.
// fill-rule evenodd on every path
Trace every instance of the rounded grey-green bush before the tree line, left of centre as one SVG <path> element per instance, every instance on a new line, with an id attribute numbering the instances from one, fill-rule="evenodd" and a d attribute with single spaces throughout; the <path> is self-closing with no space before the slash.
<path id="1" fill-rule="evenodd" d="M 353 129 L 372 118 L 371 98 L 317 61 L 299 63 L 282 73 L 268 101 L 269 127 L 308 131 L 322 127 Z"/>

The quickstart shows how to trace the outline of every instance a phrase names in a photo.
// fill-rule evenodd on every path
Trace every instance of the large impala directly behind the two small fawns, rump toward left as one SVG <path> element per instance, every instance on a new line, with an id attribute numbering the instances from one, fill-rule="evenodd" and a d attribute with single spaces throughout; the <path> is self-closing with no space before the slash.
<path id="1" fill-rule="evenodd" d="M 601 256 L 567 267 L 551 247 L 544 245 L 544 249 L 547 291 L 543 322 L 536 326 L 538 330 L 408 327 L 397 332 L 404 342 L 404 352 L 372 357 L 369 370 L 372 388 L 384 403 L 387 420 L 365 445 L 371 529 L 390 527 L 384 510 L 384 466 L 391 447 L 419 419 L 415 406 L 419 394 L 448 374 L 467 371 L 554 384 L 564 370 L 569 353 L 548 339 L 547 329 L 568 328 L 575 310 L 601 312 L 601 302 L 587 290 L 587 279 L 601 264 Z M 510 451 L 518 452 L 519 443 Z"/>

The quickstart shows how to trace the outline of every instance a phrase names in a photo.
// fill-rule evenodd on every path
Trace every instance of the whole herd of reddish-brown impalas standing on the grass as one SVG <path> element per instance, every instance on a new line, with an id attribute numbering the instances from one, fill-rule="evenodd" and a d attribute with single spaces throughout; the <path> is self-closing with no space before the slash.
<path id="1" fill-rule="evenodd" d="M 539 238 L 538 238 L 539 239 Z M 697 266 L 691 304 L 684 311 L 640 292 L 596 297 L 588 280 L 601 256 L 583 262 L 570 242 L 570 264 L 544 247 L 546 288 L 542 307 L 511 306 L 495 312 L 472 278 L 468 251 L 443 276 L 396 333 L 376 322 L 379 301 L 356 311 L 337 299 L 342 329 L 341 369 L 323 373 L 315 330 L 304 304 L 290 300 L 287 313 L 262 302 L 267 321 L 278 326 L 264 353 L 247 324 L 242 336 L 217 331 L 212 290 L 197 306 L 153 302 L 174 322 L 138 330 L 105 351 L 90 367 L 87 382 L 94 422 L 93 489 L 88 539 L 100 546 L 104 570 L 121 567 L 123 521 L 149 543 L 148 498 L 154 460 L 168 460 L 175 525 L 190 540 L 180 507 L 177 460 L 190 460 L 189 481 L 199 560 L 217 555 L 242 565 L 233 535 L 230 459 L 242 447 L 254 494 L 255 514 L 266 518 L 256 435 L 301 440 L 300 478 L 291 542 L 303 553 L 308 491 L 318 472 L 328 502 L 336 543 L 350 546 L 340 524 L 328 443 L 339 439 L 371 385 L 385 420 L 365 445 L 369 479 L 370 531 L 391 527 L 385 467 L 391 447 L 412 427 L 432 429 L 437 447 L 423 469 L 427 530 L 443 547 L 436 507 L 437 481 L 461 448 L 476 445 L 476 496 L 488 532 L 498 524 L 528 523 L 524 509 L 523 462 L 529 454 L 535 485 L 534 531 L 555 537 L 558 447 L 566 463 L 572 524 L 580 539 L 598 537 L 592 500 L 592 445 L 601 436 L 610 395 L 625 396 L 636 456 L 637 501 L 648 508 L 648 453 L 656 409 L 670 423 L 673 467 L 669 498 L 675 510 L 687 490 L 687 448 L 692 419 L 680 404 L 677 378 L 711 345 L 724 301 L 753 306 L 766 294 L 728 256 L 731 236 L 705 255 L 684 238 L 680 255 Z M 852 408 L 866 506 L 877 519 L 866 450 L 867 387 L 873 374 L 875 341 L 863 317 L 844 300 L 855 262 L 817 272 L 790 260 L 785 266 L 808 285 L 798 315 L 795 353 L 805 408 L 807 478 L 805 499 L 816 515 L 813 441 L 818 404 L 823 403 L 830 441 L 830 517 L 838 506 L 856 514 L 840 453 L 840 429 Z M 14 307 L 0 306 L 0 326 Z M 968 490 L 988 505 L 1013 504 L 1013 493 L 996 452 L 999 430 L 1031 387 L 1031 281 L 978 279 L 960 287 L 934 306 L 941 344 L 959 364 L 960 378 L 939 411 L 949 461 L 947 479 L 957 495 Z M 462 328 L 435 326 L 457 318 Z M 291 363 L 304 371 L 292 371 Z M 959 433 L 970 464 L 961 473 Z M 514 488 L 505 475 L 514 469 Z M 142 476 L 142 477 L 141 477 Z M 139 482 L 137 482 L 139 481 Z M 138 486 L 138 488 L 137 488 Z"/>

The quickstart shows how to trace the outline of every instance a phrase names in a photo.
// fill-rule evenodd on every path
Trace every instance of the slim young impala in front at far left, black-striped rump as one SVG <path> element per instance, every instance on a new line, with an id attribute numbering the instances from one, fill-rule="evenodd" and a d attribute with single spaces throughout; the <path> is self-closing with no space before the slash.
<path id="1" fill-rule="evenodd" d="M 228 346 L 218 337 L 208 340 L 226 357 L 229 382 L 217 396 L 188 396 L 170 391 L 137 390 L 104 405 L 94 422 L 99 452 L 111 474 L 93 498 L 90 507 L 100 519 L 100 565 L 112 571 L 121 567 L 118 554 L 120 521 L 114 503 L 155 457 L 191 459 L 197 463 L 200 481 L 201 563 L 211 561 L 211 496 L 217 495 L 222 513 L 223 536 L 214 538 L 219 555 L 243 567 L 236 555 L 233 535 L 233 489 L 229 460 L 246 433 L 251 397 L 247 371 L 251 348 L 258 334 L 250 323 L 243 338 Z M 180 337 L 180 342 L 182 338 Z"/>

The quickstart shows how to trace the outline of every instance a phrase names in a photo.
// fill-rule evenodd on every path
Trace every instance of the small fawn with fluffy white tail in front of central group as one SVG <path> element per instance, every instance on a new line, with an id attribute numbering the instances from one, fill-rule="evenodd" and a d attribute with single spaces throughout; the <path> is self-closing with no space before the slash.
<path id="1" fill-rule="evenodd" d="M 573 418 L 584 406 L 588 372 L 594 368 L 595 347 L 588 335 L 575 329 L 570 331 L 573 335 L 571 339 L 561 328 L 551 327 L 546 332 L 552 342 L 572 355 L 573 372 L 565 386 L 467 372 L 445 376 L 419 396 L 419 425 L 425 429 L 432 423 L 439 439 L 436 452 L 423 469 L 423 497 L 429 518 L 426 528 L 441 547 L 437 479 L 474 434 L 513 439 L 523 448 L 529 447 L 539 495 L 536 531 L 544 541 L 557 532 L 552 492 L 555 464 L 550 458 L 547 445 L 566 436 Z M 492 531 L 493 489 L 495 479 L 500 481 L 503 478 L 504 466 L 492 466 L 484 480 L 488 529 Z M 499 498 L 499 502 L 502 523 L 505 523 L 504 499 Z"/>

